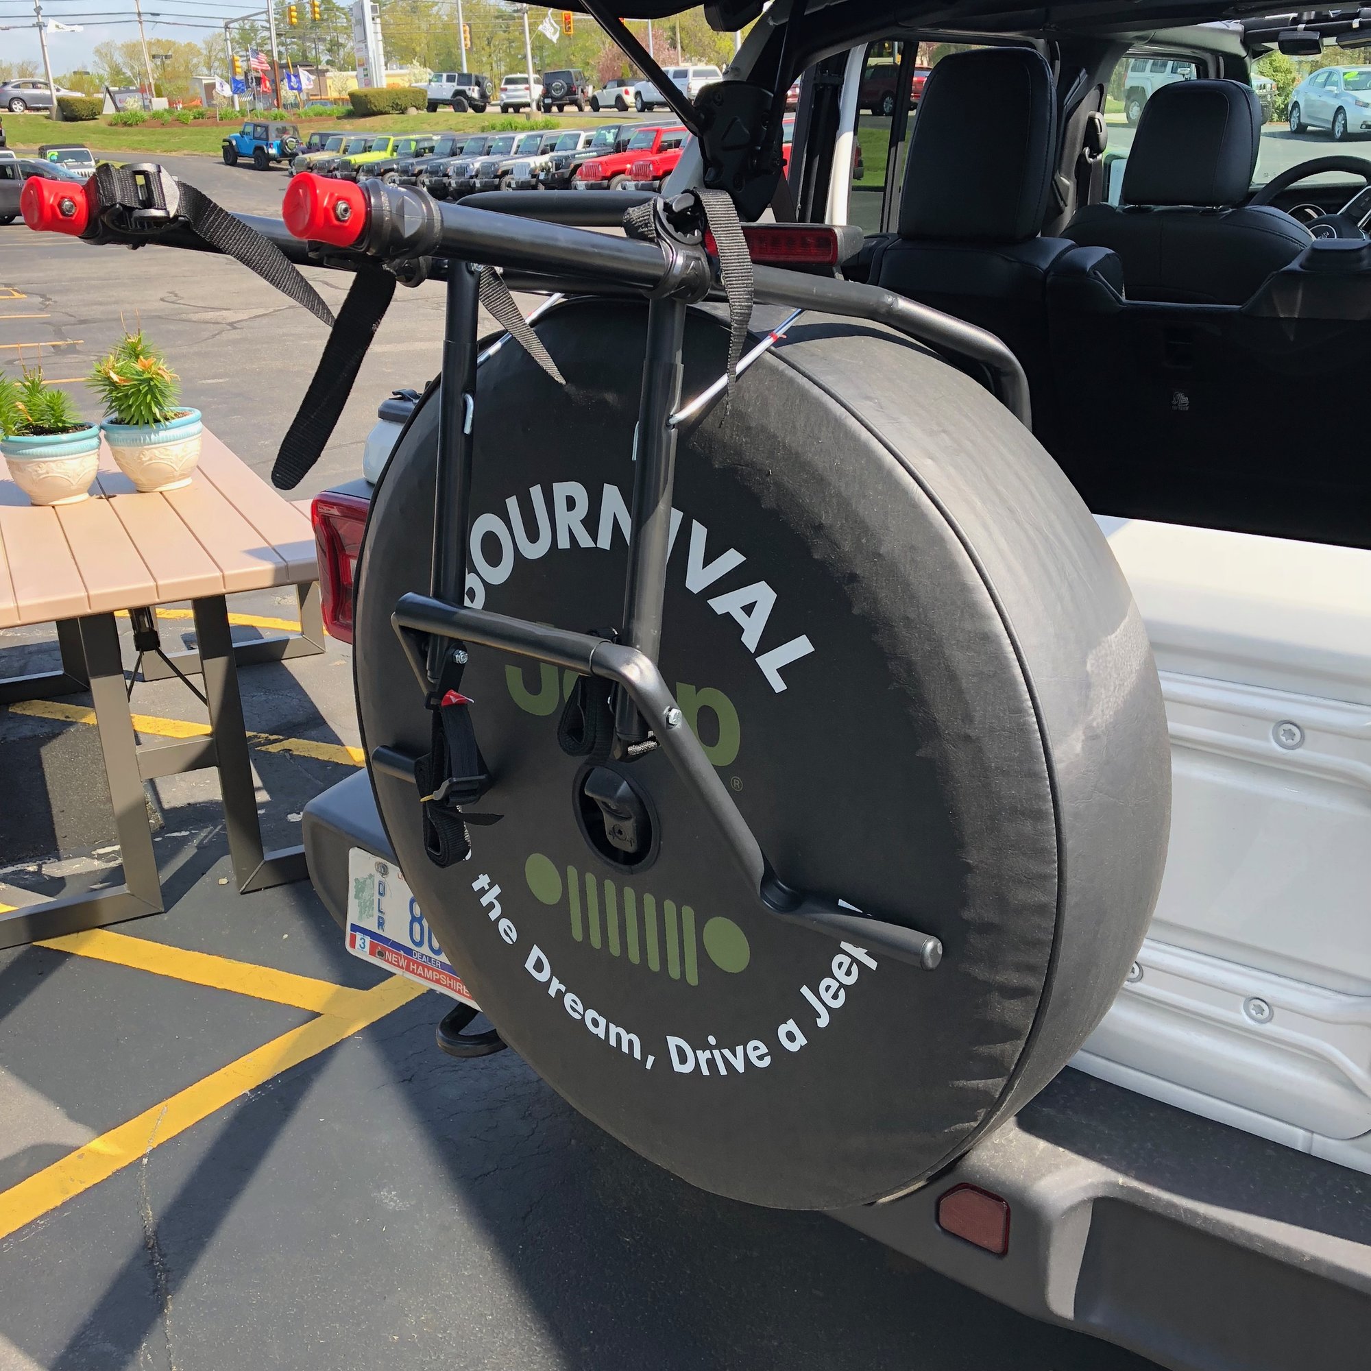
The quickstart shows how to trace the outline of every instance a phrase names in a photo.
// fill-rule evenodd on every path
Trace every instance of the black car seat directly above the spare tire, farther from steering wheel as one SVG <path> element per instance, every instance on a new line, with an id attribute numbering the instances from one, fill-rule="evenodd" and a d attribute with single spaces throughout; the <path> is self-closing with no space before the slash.
<path id="1" fill-rule="evenodd" d="M 1035 48 L 943 58 L 913 123 L 899 232 L 877 248 L 871 267 L 873 284 L 1008 344 L 1028 374 L 1043 441 L 1053 409 L 1045 281 L 1075 247 L 1038 236 L 1057 144 L 1052 69 Z"/>

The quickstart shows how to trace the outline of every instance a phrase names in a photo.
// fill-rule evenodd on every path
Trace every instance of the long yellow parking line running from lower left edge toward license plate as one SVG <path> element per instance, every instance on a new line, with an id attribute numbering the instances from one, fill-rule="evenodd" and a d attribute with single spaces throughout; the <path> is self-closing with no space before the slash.
<path id="1" fill-rule="evenodd" d="M 351 1013 L 321 1015 L 273 1038 L 193 1086 L 144 1109 L 128 1123 L 93 1138 L 27 1180 L 0 1191 L 0 1238 L 51 1213 L 67 1200 L 145 1157 L 154 1148 L 185 1132 L 202 1119 L 208 1119 L 248 1090 L 317 1057 L 421 994 L 424 987 L 414 982 L 399 976 L 385 980 L 374 990 L 363 991 L 358 1008 Z"/>

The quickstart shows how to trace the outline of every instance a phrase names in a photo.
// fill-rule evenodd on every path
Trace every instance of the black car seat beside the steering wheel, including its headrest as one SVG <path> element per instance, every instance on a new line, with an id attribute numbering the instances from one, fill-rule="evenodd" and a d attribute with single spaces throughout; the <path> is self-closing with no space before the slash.
<path id="1" fill-rule="evenodd" d="M 1063 230 L 1108 248 L 1130 300 L 1243 304 L 1312 241 L 1271 206 L 1243 206 L 1261 106 L 1237 81 L 1178 81 L 1143 107 L 1121 206 L 1091 204 Z"/>

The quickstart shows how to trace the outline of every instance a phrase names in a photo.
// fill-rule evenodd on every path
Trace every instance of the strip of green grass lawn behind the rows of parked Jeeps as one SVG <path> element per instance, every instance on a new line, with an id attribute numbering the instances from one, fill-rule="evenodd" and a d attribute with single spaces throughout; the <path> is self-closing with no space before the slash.
<path id="1" fill-rule="evenodd" d="M 4 114 L 4 132 L 10 148 L 15 152 L 32 152 L 40 143 L 82 143 L 92 152 L 178 152 L 200 154 L 217 158 L 223 137 L 243 128 L 245 114 L 215 123 L 202 119 L 196 123 L 163 123 L 148 119 L 132 128 L 112 128 L 107 118 L 88 119 L 81 123 L 53 123 L 44 114 Z M 348 117 L 345 119 L 300 119 L 300 136 L 308 137 L 315 129 L 329 132 L 355 130 L 358 133 L 414 133 L 430 130 L 481 133 L 491 128 L 528 129 L 563 126 L 568 129 L 591 129 L 598 123 L 610 123 L 622 115 L 599 114 L 540 115 L 529 122 L 524 115 L 505 114 L 499 110 L 487 114 L 452 114 L 440 110 L 437 114 L 395 114 L 377 115 L 370 119 Z"/>

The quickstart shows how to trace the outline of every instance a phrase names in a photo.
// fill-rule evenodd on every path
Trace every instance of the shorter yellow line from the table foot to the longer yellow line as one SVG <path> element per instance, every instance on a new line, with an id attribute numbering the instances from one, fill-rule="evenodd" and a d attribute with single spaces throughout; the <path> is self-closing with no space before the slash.
<path id="1" fill-rule="evenodd" d="M 169 947 L 166 943 L 151 942 L 147 938 L 130 938 L 128 934 L 111 932 L 108 928 L 93 928 L 84 934 L 67 934 L 63 938 L 48 938 L 40 947 L 55 947 L 58 951 L 74 953 L 78 957 L 92 957 L 108 961 L 117 967 L 132 967 L 148 971 L 155 976 L 170 976 L 173 980 L 188 980 L 195 986 L 208 986 L 213 990 L 230 990 L 236 995 L 251 995 L 254 999 L 270 999 L 278 1005 L 292 1005 L 296 1009 L 313 1009 L 317 1015 L 348 1016 L 358 1012 L 366 1001 L 367 991 L 352 990 L 348 986 L 335 986 L 313 976 L 296 976 L 274 967 L 258 967 L 232 957 L 217 957 L 207 951 L 191 951 L 188 947 Z"/>

